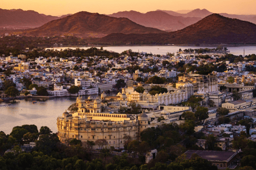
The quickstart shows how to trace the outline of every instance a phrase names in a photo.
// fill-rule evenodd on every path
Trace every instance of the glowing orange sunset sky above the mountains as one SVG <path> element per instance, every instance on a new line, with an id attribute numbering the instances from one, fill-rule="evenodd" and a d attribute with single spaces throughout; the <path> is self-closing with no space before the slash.
<path id="1" fill-rule="evenodd" d="M 47 15 L 87 11 L 112 14 L 118 11 L 146 13 L 155 10 L 194 10 L 213 13 L 256 14 L 256 0 L 1 0 L 0 8 L 34 10 Z"/>

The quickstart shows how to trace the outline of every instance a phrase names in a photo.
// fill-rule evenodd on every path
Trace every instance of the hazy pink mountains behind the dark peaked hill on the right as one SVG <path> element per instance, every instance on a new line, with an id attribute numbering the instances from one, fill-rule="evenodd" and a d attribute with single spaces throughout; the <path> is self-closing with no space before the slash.
<path id="1" fill-rule="evenodd" d="M 144 25 L 146 27 L 153 27 L 165 31 L 175 31 L 194 24 L 197 21 L 211 14 L 213 13 L 207 11 L 206 9 L 200 10 L 198 8 L 185 14 L 174 11 L 157 10 L 150 11 L 145 14 L 137 11 L 123 11 L 110 14 L 109 16 L 114 16 L 116 18 L 128 18 L 131 21 Z M 220 15 L 226 16 L 228 18 L 249 21 L 256 24 L 256 15 L 235 15 L 227 13 L 220 13 Z"/>

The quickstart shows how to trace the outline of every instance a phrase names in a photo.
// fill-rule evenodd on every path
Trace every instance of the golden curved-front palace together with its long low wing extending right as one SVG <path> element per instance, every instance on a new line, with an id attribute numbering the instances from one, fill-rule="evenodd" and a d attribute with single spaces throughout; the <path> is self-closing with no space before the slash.
<path id="1" fill-rule="evenodd" d="M 121 101 L 120 101 L 121 102 Z M 147 128 L 157 127 L 165 123 L 178 122 L 183 112 L 190 111 L 189 107 L 175 107 L 173 111 L 157 110 L 154 112 L 143 112 L 139 115 L 117 114 L 113 110 L 109 112 L 108 105 L 102 103 L 100 98 L 88 99 L 77 97 L 76 104 L 78 111 L 69 114 L 64 112 L 57 118 L 58 137 L 61 142 L 67 142 L 71 139 L 78 139 L 82 142 L 97 141 L 105 139 L 107 147 L 123 148 L 126 136 L 131 140 L 139 138 L 140 132 Z M 163 106 L 167 107 L 167 106 Z M 180 111 L 178 110 L 180 109 Z M 108 110 L 108 112 L 105 112 Z M 164 120 L 158 121 L 162 117 Z M 94 146 L 98 148 L 98 146 Z"/>

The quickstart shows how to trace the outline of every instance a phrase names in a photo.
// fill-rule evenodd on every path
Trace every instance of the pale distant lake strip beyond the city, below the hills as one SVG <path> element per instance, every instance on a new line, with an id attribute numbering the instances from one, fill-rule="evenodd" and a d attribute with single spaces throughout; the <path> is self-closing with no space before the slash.
<path id="1" fill-rule="evenodd" d="M 122 53 L 125 50 L 132 49 L 133 52 L 146 52 L 152 54 L 165 55 L 166 53 L 176 53 L 180 48 L 183 49 L 197 49 L 197 48 L 216 48 L 217 46 L 109 46 L 104 47 L 103 49 L 111 50 L 116 53 Z M 230 50 L 231 54 L 234 55 L 243 55 L 245 50 L 245 55 L 256 54 L 256 46 L 225 46 Z M 47 48 L 47 49 L 66 49 L 67 47 L 58 47 L 58 48 Z M 88 49 L 91 47 L 79 47 L 81 49 Z M 71 49 L 76 49 L 72 47 Z"/>

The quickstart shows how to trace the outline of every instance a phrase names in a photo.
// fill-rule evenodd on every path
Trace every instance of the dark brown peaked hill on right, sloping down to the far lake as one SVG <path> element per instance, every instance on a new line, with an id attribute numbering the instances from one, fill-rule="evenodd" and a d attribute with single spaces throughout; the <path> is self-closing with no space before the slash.
<path id="1" fill-rule="evenodd" d="M 97 40 L 109 44 L 256 44 L 256 25 L 211 14 L 182 30 L 146 35 L 113 33 Z"/>

